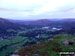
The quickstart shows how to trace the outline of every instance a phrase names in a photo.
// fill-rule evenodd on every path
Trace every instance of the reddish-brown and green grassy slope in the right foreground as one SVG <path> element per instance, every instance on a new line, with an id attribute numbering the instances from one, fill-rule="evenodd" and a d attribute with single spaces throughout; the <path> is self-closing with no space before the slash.
<path id="1" fill-rule="evenodd" d="M 16 54 L 19 54 L 20 56 L 32 56 L 34 54 L 38 54 L 39 56 L 59 56 L 59 52 L 65 51 L 65 52 L 75 52 L 75 43 L 73 45 L 65 46 L 62 42 L 64 40 L 75 40 L 75 36 L 73 35 L 66 35 L 66 34 L 59 34 L 56 35 L 54 38 L 57 38 L 56 40 L 49 40 L 44 41 L 39 44 L 34 44 L 28 47 L 25 47 Z M 72 49 L 71 49 L 72 48 Z"/>

